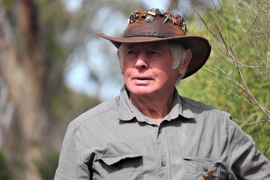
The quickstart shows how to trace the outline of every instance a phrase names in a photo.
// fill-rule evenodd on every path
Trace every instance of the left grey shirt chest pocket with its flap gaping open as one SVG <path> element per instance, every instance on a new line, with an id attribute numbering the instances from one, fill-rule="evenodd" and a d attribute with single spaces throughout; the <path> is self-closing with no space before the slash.
<path id="1" fill-rule="evenodd" d="M 143 179 L 142 154 L 109 154 L 97 159 L 101 179 Z"/>

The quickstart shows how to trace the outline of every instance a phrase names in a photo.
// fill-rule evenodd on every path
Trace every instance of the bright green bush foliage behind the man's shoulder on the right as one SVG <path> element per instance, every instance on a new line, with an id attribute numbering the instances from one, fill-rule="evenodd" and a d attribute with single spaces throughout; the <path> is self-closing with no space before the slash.
<path id="1" fill-rule="evenodd" d="M 220 2 L 222 8 L 216 4 L 217 9 L 204 12 L 202 16 L 210 33 L 205 26 L 198 28 L 198 21 L 189 24 L 190 29 L 195 29 L 195 34 L 209 34 L 205 38 L 212 46 L 208 60 L 211 63 L 207 62 L 205 69 L 196 73 L 199 77 L 193 75 L 183 80 L 180 94 L 227 111 L 236 123 L 242 125 L 267 120 L 267 115 L 251 103 L 254 100 L 248 94 L 250 91 L 257 102 L 269 110 L 270 23 L 266 21 L 267 4 Z M 270 160 L 270 122 L 242 129 L 252 136 L 257 149 Z"/>

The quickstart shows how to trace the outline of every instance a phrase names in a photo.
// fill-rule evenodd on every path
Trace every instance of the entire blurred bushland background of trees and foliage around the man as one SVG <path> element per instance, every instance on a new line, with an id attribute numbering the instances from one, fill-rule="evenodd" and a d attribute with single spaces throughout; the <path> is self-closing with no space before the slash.
<path id="1" fill-rule="evenodd" d="M 68 124 L 117 96 L 114 45 L 136 9 L 183 15 L 188 35 L 209 39 L 205 68 L 180 95 L 230 112 L 270 159 L 267 1 L 1 0 L 0 179 L 53 179 Z M 260 9 L 260 11 L 257 11 Z"/>

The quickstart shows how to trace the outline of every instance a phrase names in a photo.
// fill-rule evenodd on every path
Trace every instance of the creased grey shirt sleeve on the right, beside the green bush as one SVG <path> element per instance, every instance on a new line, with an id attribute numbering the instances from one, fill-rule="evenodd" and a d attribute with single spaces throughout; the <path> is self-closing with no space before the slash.
<path id="1" fill-rule="evenodd" d="M 269 179 L 270 162 L 255 147 L 252 137 L 230 121 L 229 124 L 229 179 Z"/>

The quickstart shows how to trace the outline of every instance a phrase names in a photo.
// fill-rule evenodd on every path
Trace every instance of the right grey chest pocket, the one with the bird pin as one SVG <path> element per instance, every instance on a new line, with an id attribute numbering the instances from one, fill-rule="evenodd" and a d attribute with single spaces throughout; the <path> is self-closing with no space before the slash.
<path id="1" fill-rule="evenodd" d="M 220 176 L 221 160 L 212 160 L 208 158 L 183 157 L 185 163 L 185 179 L 200 179 L 204 175 L 211 174 L 210 180 L 218 180 Z M 204 178 L 203 178 L 204 179 Z"/>

